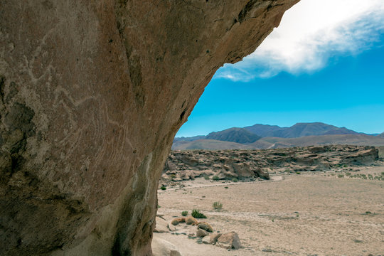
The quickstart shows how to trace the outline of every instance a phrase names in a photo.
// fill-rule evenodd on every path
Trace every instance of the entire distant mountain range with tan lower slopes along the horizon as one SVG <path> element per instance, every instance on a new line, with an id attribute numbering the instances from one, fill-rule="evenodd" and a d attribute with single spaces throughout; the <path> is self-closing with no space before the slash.
<path id="1" fill-rule="evenodd" d="M 292 127 L 255 124 L 208 135 L 176 137 L 172 149 L 275 149 L 324 144 L 384 146 L 384 132 L 364 134 L 321 122 L 297 123 Z"/>

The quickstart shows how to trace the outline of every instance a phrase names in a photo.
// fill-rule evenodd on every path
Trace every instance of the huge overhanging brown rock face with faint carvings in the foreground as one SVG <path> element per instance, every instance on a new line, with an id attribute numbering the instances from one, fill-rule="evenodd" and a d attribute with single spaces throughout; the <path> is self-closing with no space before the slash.
<path id="1" fill-rule="evenodd" d="M 1 2 L 0 255 L 150 255 L 174 134 L 297 1 Z"/>

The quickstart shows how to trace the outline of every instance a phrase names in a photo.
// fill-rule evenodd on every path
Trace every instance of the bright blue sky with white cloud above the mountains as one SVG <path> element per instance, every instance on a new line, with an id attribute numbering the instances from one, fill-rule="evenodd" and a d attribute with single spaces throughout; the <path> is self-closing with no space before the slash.
<path id="1" fill-rule="evenodd" d="M 176 137 L 297 122 L 384 132 L 384 1 L 302 0 L 218 70 Z"/>

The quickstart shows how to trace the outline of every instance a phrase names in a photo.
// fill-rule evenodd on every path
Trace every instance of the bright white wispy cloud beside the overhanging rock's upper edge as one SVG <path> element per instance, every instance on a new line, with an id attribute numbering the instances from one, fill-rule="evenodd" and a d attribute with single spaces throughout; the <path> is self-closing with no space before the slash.
<path id="1" fill-rule="evenodd" d="M 311 73 L 333 55 L 369 49 L 383 33 L 383 0 L 302 0 L 254 53 L 225 64 L 215 77 L 247 81 L 282 71 Z"/>

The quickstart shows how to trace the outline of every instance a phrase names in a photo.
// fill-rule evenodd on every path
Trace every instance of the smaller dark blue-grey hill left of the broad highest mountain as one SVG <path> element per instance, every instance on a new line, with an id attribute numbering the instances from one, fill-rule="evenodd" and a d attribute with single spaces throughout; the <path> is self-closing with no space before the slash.
<path id="1" fill-rule="evenodd" d="M 244 128 L 230 128 L 220 132 L 211 132 L 206 139 L 215 139 L 222 142 L 236 142 L 247 144 L 256 142 L 261 137 Z"/>

